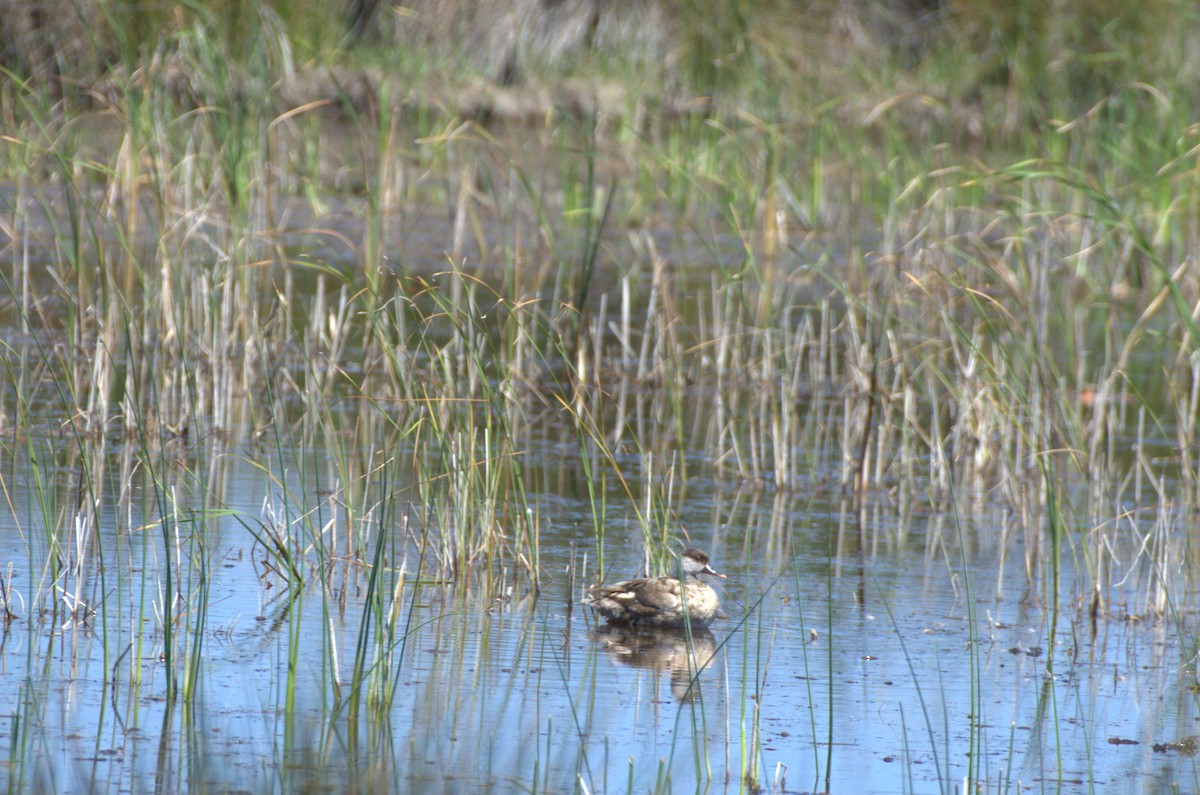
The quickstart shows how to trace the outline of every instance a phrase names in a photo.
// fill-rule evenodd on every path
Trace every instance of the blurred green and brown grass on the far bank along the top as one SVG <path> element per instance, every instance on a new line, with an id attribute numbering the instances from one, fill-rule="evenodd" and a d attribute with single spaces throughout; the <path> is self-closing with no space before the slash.
<path id="1" fill-rule="evenodd" d="M 966 151 L 1024 148 L 1086 124 L 1158 126 L 1195 94 L 1200 11 L 1181 0 L 4 0 L 6 80 L 86 101 L 116 74 L 172 65 L 203 29 L 234 70 L 268 68 L 293 101 L 328 76 L 386 76 L 412 96 L 470 107 L 480 85 L 583 83 L 606 110 L 748 113 L 768 122 L 836 108 Z M 282 50 L 281 50 L 282 52 Z M 332 72 L 330 72 L 332 70 Z M 318 74 L 320 77 L 318 77 Z M 607 92 L 600 89 L 607 88 Z M 488 110 L 536 104 L 481 100 Z"/>

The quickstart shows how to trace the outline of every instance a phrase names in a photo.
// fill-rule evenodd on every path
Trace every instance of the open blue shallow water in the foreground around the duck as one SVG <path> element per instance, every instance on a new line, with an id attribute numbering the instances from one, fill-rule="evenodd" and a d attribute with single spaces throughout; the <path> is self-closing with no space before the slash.
<path id="1" fill-rule="evenodd" d="M 233 467 L 229 507 L 259 515 L 262 472 Z M 559 495 L 554 515 L 572 513 L 583 507 Z M 641 793 L 740 791 L 749 776 L 769 791 L 930 793 L 961 791 L 967 777 L 996 791 L 1187 791 L 1200 782 L 1194 757 L 1154 749 L 1200 733 L 1194 650 L 1169 622 L 1100 618 L 1093 634 L 1085 612 L 1064 609 L 1051 650 L 1050 615 L 1024 598 L 1040 590 L 1026 587 L 1024 563 L 998 564 L 1003 514 L 985 508 L 962 520 L 961 536 L 942 513 L 878 504 L 862 525 L 854 516 L 697 479 L 680 519 L 728 575 L 718 584 L 728 617 L 690 641 L 598 628 L 580 606 L 594 545 L 564 520 L 542 540 L 540 594 L 407 586 L 396 697 L 356 719 L 344 709 L 331 717 L 330 683 L 346 694 L 360 573 L 289 594 L 256 562 L 245 527 L 222 519 L 208 548 L 202 686 L 193 704 L 170 706 L 156 622 L 130 629 L 146 612 L 138 599 L 156 598 L 162 581 L 160 544 L 101 528 L 121 560 L 148 552 L 88 592 L 106 594 L 103 605 L 90 597 L 101 609 L 82 622 L 23 614 L 18 603 L 6 627 L 5 735 L 28 751 L 14 754 L 26 767 L 4 769 L 5 783 Z M 610 524 L 606 566 L 613 576 L 636 573 L 640 544 L 622 543 L 629 520 Z M 961 556 L 960 537 L 972 539 Z M 37 536 L 8 515 L 0 538 L 14 591 L 29 592 L 30 563 L 44 560 Z M 1063 604 L 1078 596 L 1072 581 L 1064 575 Z M 1114 604 L 1135 591 L 1115 591 Z M 289 642 L 299 650 L 292 693 Z M 689 647 L 710 657 L 698 674 Z"/>

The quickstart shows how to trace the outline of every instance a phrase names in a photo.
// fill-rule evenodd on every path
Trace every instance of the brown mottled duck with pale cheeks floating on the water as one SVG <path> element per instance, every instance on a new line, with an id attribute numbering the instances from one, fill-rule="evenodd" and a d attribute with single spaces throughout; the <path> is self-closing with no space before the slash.
<path id="1" fill-rule="evenodd" d="M 610 624 L 660 627 L 679 629 L 707 628 L 718 616 L 720 599 L 716 591 L 700 579 L 701 574 L 719 576 L 708 562 L 708 554 L 688 548 L 679 554 L 683 579 L 676 576 L 643 576 L 622 580 L 593 588 L 584 603 L 604 616 Z"/>

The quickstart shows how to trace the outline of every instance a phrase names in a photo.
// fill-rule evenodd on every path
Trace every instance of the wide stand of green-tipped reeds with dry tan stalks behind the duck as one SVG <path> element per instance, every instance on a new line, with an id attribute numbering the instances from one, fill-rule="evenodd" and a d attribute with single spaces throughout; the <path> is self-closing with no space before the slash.
<path id="1" fill-rule="evenodd" d="M 282 32 L 264 37 L 270 53 L 287 52 L 270 44 Z M 812 193 L 797 171 L 826 144 L 797 147 L 779 125 L 730 116 L 685 124 L 665 142 L 601 143 L 590 127 L 581 150 L 572 125 L 538 131 L 551 142 L 568 136 L 554 185 L 530 179 L 524 162 L 496 163 L 484 135 L 400 145 L 380 94 L 377 118 L 360 119 L 372 131 L 361 151 L 362 238 L 329 231 L 362 253 L 360 277 L 296 257 L 312 238 L 280 226 L 288 198 L 278 186 L 298 186 L 288 169 L 311 177 L 311 163 L 280 153 L 296 118 L 232 94 L 227 55 L 203 28 L 178 47 L 202 86 L 191 95 L 198 109 L 176 104 L 150 72 L 137 95 L 152 101 L 103 114 L 121 130 L 108 154 L 83 145 L 35 89 L 18 89 L 25 119 L 10 151 L 24 173 L 53 179 L 23 184 L 18 196 L 44 221 L 16 213 L 28 202 L 14 202 L 11 251 L 59 258 L 48 279 L 13 259 L 10 294 L 37 347 L 13 349 L 10 394 L 28 394 L 35 377 L 58 384 L 64 413 L 85 434 L 115 420 L 155 455 L 173 438 L 320 440 L 342 462 L 341 488 L 354 490 L 355 525 L 371 509 L 362 486 L 394 459 L 365 467 L 344 435 L 376 446 L 384 437 L 372 429 L 390 428 L 386 449 L 404 455 L 395 459 L 404 473 L 395 482 L 406 484 L 396 504 L 420 503 L 420 532 L 438 533 L 440 573 L 496 578 L 498 561 L 509 561 L 534 586 L 538 484 L 522 462 L 540 432 L 534 417 L 575 429 L 598 465 L 587 482 L 624 484 L 660 549 L 677 489 L 708 466 L 793 490 L 823 477 L 829 461 L 816 456 L 835 450 L 838 480 L 863 494 L 902 484 L 905 500 L 922 488 L 942 500 L 956 470 L 970 492 L 998 489 L 1031 515 L 1039 501 L 1020 485 L 1042 477 L 1031 454 L 1066 448 L 1076 477 L 1111 479 L 1092 476 L 1115 474 L 1112 435 L 1130 428 L 1130 401 L 1157 428 L 1180 429 L 1180 449 L 1189 447 L 1186 401 L 1158 400 L 1156 384 L 1190 390 L 1150 365 L 1159 355 L 1183 361 L 1198 336 L 1194 280 L 1169 265 L 1195 233 L 1184 211 L 1194 192 L 1172 177 L 1177 163 L 1156 178 L 1183 189 L 1164 210 L 1080 166 L 936 168 L 919 151 L 901 153 L 911 144 L 896 137 L 852 163 L 826 156 L 824 173 L 851 169 L 838 180 L 846 201 Z M 272 62 L 264 56 L 258 68 Z M 820 120 L 815 132 L 833 138 Z M 600 191 L 605 147 L 638 175 Z M 386 231 L 396 201 L 385 197 L 386 163 L 407 157 L 427 169 L 431 196 L 454 186 L 454 238 L 475 227 L 479 263 L 460 255 L 449 268 L 410 256 L 386 264 L 383 252 L 403 245 Z M 1141 168 L 1117 175 L 1144 177 Z M 514 183 L 521 190 L 505 187 Z M 480 196 L 480 185 L 494 193 Z M 400 228 L 413 228 L 412 201 L 400 205 Z M 497 257 L 503 283 L 490 270 L 485 207 L 503 207 L 512 227 Z M 650 228 L 623 246 L 613 231 L 641 222 L 618 217 L 629 207 L 671 213 L 679 247 L 658 251 Z M 563 233 L 577 219 L 582 238 Z M 816 231 L 797 234 L 814 221 L 875 240 L 842 246 Z M 882 232 L 860 227 L 876 222 Z M 529 229 L 536 237 L 516 245 Z M 718 270 L 692 275 L 692 256 Z M 599 275 L 601 259 L 620 285 L 611 299 L 619 310 L 601 286 L 613 283 Z M 316 289 L 298 292 L 311 273 L 322 274 Z M 1051 288 L 1062 280 L 1066 291 Z M 23 405 L 10 399 L 6 413 L 23 417 Z M 712 462 L 700 470 L 694 440 Z M 636 477 L 619 462 L 624 444 L 641 456 Z M 918 466 L 928 467 L 919 478 Z M 1180 461 L 1180 472 L 1190 468 Z M 1106 509 L 1105 492 L 1093 502 L 1084 515 Z M 323 534 L 313 540 L 326 556 Z M 294 574 L 300 552 L 287 552 Z"/>

